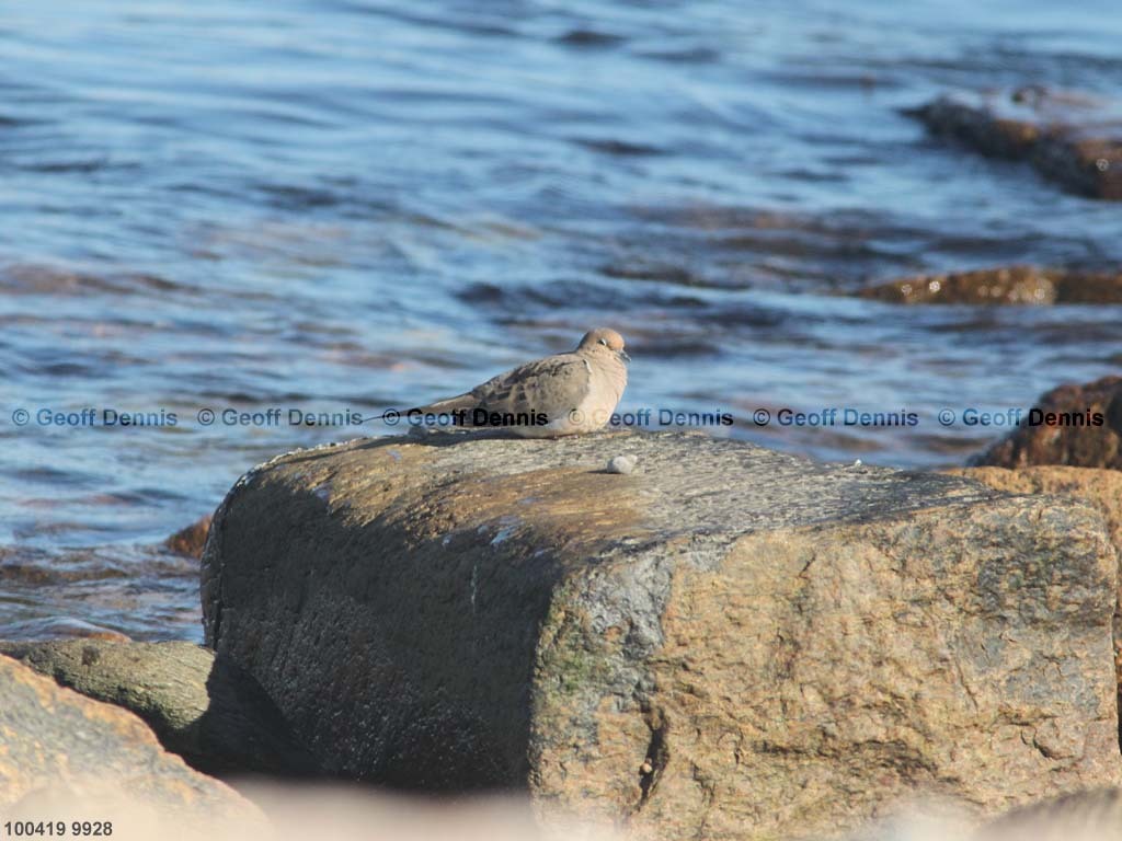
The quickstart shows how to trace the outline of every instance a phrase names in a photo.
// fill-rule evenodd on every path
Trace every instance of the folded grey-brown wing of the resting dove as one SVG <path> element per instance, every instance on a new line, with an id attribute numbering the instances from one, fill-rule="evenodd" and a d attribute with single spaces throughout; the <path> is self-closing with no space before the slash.
<path id="1" fill-rule="evenodd" d="M 541 413 L 553 420 L 580 406 L 591 380 L 588 360 L 577 353 L 558 353 L 500 373 L 471 395 L 488 412 Z"/>

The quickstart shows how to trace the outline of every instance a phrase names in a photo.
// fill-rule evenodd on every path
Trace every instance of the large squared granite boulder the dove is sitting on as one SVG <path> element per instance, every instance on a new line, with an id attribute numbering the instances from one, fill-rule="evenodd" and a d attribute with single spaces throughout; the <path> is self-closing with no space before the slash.
<path id="1" fill-rule="evenodd" d="M 1115 588 L 1073 499 L 624 433 L 280 456 L 202 592 L 331 770 L 763 839 L 1118 783 Z"/>

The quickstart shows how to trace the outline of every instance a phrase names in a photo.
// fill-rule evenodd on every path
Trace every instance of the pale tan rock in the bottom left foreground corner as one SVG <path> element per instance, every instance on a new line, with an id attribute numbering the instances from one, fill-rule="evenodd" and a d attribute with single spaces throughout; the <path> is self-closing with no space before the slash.
<path id="1" fill-rule="evenodd" d="M 103 798 L 123 797 L 173 824 L 254 813 L 232 789 L 165 754 L 132 713 L 62 688 L 0 656 L 0 806 L 6 819 L 61 820 L 81 800 L 101 806 L 79 815 L 82 820 L 112 820 L 113 810 Z M 118 834 L 123 829 L 118 826 Z"/>

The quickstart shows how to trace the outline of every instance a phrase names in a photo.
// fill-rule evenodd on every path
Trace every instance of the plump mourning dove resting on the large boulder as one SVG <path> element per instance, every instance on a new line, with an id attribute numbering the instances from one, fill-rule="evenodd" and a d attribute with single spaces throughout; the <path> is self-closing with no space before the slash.
<path id="1" fill-rule="evenodd" d="M 569 353 L 527 362 L 470 391 L 410 409 L 410 423 L 498 426 L 527 438 L 605 426 L 627 387 L 624 338 L 597 327 Z M 426 417 L 427 416 L 427 417 Z M 443 416 L 440 418 L 438 416 Z"/>

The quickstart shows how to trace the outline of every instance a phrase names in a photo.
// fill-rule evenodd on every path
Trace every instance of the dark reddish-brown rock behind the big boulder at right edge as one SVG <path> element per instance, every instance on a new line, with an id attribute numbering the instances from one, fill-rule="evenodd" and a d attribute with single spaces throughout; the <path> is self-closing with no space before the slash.
<path id="1" fill-rule="evenodd" d="M 1122 377 L 1054 388 L 1022 424 L 972 460 L 976 466 L 1068 464 L 1122 470 Z"/>

